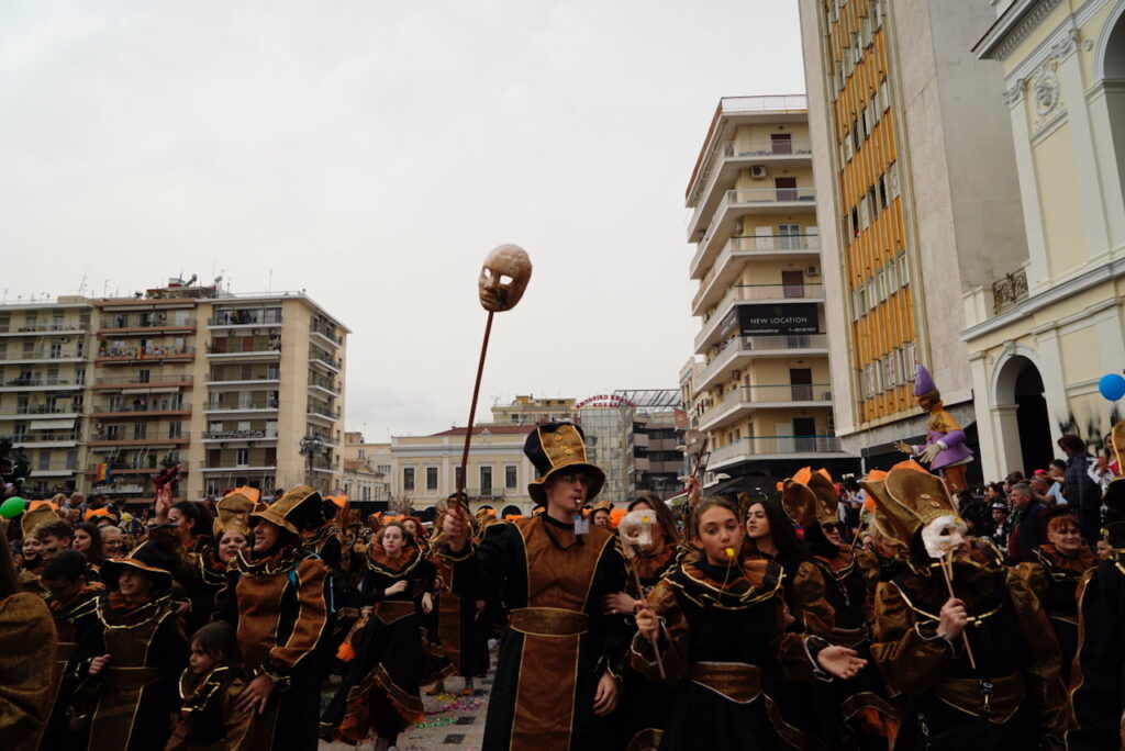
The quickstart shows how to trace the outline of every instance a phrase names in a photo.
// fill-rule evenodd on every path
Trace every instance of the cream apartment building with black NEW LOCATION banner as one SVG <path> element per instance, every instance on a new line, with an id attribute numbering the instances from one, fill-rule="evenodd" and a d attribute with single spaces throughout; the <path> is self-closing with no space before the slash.
<path id="1" fill-rule="evenodd" d="M 832 424 L 806 98 L 723 98 L 687 207 L 702 362 L 681 384 L 709 436 L 712 477 L 852 469 Z"/>

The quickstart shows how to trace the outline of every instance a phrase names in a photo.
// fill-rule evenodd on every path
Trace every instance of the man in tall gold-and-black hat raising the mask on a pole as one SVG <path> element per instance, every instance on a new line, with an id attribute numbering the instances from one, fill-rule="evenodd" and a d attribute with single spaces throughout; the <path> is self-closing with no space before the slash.
<path id="1" fill-rule="evenodd" d="M 537 426 L 523 451 L 540 474 L 529 494 L 547 512 L 474 542 L 464 504 L 451 505 L 438 548 L 458 578 L 500 591 L 510 609 L 483 748 L 596 751 L 631 636 L 623 616 L 601 607 L 626 585 L 616 536 L 582 519 L 605 473 L 586 461 L 583 432 L 569 423 Z"/>

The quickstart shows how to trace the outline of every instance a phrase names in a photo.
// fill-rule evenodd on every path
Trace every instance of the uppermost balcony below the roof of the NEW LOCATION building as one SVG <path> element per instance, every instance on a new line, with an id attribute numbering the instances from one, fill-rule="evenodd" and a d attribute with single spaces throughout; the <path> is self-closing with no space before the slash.
<path id="1" fill-rule="evenodd" d="M 734 184 L 741 170 L 758 168 L 758 175 L 765 179 L 774 174 L 773 170 L 808 166 L 811 163 L 812 142 L 808 138 L 728 141 L 717 144 L 708 156 L 702 178 L 695 181 L 695 190 L 688 197 L 688 203 L 695 207 L 688 235 L 699 233 L 704 217 L 714 210 L 714 205 L 721 198 L 721 192 L 716 187 Z"/>

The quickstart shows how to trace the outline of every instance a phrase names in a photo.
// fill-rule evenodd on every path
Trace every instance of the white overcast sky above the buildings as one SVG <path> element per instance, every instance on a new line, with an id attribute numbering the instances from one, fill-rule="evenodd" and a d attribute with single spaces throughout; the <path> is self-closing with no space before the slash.
<path id="1" fill-rule="evenodd" d="M 478 416 L 673 388 L 685 184 L 720 97 L 803 91 L 795 4 L 6 0 L 0 288 L 304 288 L 381 441 L 465 423 L 477 271 L 513 242 L 536 269 Z"/>

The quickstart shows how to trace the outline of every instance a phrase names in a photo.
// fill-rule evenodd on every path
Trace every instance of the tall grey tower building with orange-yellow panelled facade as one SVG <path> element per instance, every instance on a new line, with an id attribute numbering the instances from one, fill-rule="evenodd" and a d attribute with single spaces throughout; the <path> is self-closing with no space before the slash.
<path id="1" fill-rule="evenodd" d="M 917 363 L 975 445 L 962 295 L 1026 254 L 987 4 L 800 1 L 835 427 L 868 467 L 925 435 Z"/>

